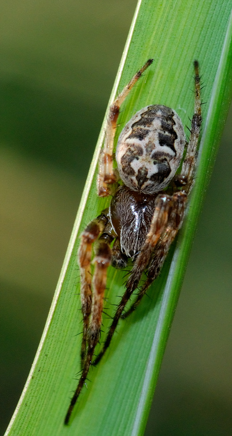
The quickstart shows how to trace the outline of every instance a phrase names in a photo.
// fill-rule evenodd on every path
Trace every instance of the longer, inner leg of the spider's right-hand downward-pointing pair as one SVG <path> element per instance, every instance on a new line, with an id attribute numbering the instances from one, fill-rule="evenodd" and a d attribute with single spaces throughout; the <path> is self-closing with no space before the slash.
<path id="1" fill-rule="evenodd" d="M 93 365 L 98 364 L 102 356 L 105 354 L 111 342 L 115 328 L 117 327 L 118 322 L 121 318 L 122 312 L 125 309 L 125 306 L 128 300 L 130 299 L 130 296 L 132 295 L 133 291 L 137 288 L 141 276 L 143 274 L 143 271 L 147 267 L 147 264 L 150 261 L 151 253 L 154 250 L 154 247 L 158 243 L 162 233 L 164 232 L 167 226 L 168 214 L 171 206 L 170 203 L 171 203 L 170 196 L 167 196 L 165 194 L 158 195 L 157 205 L 152 217 L 150 231 L 147 234 L 146 241 L 142 246 L 141 252 L 139 253 L 136 261 L 134 262 L 130 277 L 126 283 L 126 291 L 122 296 L 121 302 L 119 303 L 117 310 L 114 314 L 103 348 L 100 351 L 99 355 L 94 360 Z"/>

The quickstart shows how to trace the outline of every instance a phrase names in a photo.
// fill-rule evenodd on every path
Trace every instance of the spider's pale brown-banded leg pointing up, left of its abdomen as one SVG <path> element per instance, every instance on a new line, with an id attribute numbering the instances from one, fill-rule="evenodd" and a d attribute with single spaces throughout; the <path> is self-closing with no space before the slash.
<path id="1" fill-rule="evenodd" d="M 137 83 L 142 73 L 151 65 L 152 59 L 149 59 L 146 64 L 139 70 L 124 87 L 119 96 L 114 100 L 109 108 L 109 115 L 107 117 L 106 136 L 103 150 L 99 159 L 99 174 L 98 174 L 98 194 L 101 197 L 110 195 L 109 185 L 117 182 L 117 175 L 113 170 L 113 141 L 115 130 L 117 127 L 117 120 L 119 110 L 130 90 Z"/>

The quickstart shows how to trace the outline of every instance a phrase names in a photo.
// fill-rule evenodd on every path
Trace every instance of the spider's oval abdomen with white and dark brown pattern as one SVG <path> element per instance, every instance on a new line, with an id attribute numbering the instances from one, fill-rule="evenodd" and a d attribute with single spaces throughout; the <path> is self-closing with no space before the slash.
<path id="1" fill-rule="evenodd" d="M 132 190 L 159 192 L 175 175 L 185 141 L 175 110 L 162 105 L 141 109 L 119 136 L 116 160 L 122 181 Z"/>

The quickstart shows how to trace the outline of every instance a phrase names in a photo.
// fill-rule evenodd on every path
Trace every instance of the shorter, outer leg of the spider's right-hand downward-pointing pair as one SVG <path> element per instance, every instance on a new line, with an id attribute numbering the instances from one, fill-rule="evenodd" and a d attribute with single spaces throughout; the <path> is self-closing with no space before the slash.
<path id="1" fill-rule="evenodd" d="M 127 318 L 127 316 L 130 315 L 130 313 L 132 313 L 137 308 L 148 287 L 159 275 L 160 270 L 166 259 L 167 253 L 169 251 L 170 245 L 182 226 L 187 195 L 184 192 L 177 192 L 173 194 L 171 199 L 172 208 L 170 211 L 167 227 L 163 232 L 159 243 L 155 247 L 154 252 L 151 255 L 151 259 L 147 267 L 147 279 L 142 286 L 137 296 L 137 299 L 134 301 L 131 307 L 125 313 L 123 313 L 122 318 Z"/>

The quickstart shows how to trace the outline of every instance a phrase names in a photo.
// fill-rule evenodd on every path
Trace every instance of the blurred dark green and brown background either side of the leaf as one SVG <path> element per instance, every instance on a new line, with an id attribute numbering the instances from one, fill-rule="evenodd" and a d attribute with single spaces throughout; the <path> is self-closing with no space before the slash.
<path id="1" fill-rule="evenodd" d="M 136 4 L 1 2 L 2 433 L 40 341 Z M 231 115 L 147 436 L 231 434 Z"/>

